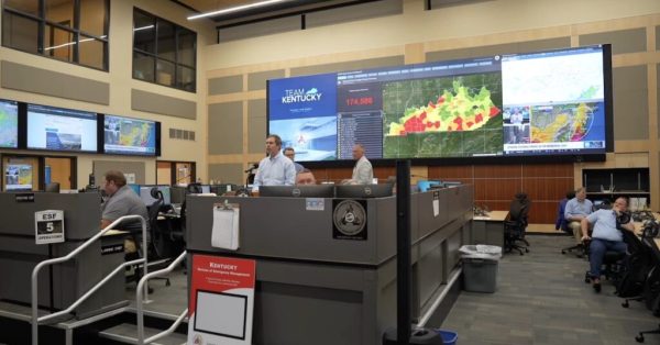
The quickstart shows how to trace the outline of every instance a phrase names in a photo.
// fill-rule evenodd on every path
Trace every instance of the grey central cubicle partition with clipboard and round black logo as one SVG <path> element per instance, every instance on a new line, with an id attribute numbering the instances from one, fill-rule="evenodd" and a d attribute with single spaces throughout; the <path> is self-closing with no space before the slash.
<path id="1" fill-rule="evenodd" d="M 226 200 L 240 208 L 238 251 L 211 246 L 213 205 Z M 360 200 L 366 227 L 356 237 L 333 229 L 340 201 L 309 208 L 305 198 L 188 197 L 190 256 L 256 260 L 254 343 L 381 344 L 396 325 L 396 198 Z M 472 203 L 472 186 L 411 196 L 415 320 L 450 288 L 458 249 L 470 242 Z"/>

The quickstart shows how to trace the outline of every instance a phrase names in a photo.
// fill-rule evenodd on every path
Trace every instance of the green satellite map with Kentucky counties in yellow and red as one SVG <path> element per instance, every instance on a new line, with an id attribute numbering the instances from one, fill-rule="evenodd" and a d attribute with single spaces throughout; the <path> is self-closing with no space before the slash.
<path id="1" fill-rule="evenodd" d="M 502 152 L 499 74 L 388 82 L 383 88 L 385 158 Z"/>

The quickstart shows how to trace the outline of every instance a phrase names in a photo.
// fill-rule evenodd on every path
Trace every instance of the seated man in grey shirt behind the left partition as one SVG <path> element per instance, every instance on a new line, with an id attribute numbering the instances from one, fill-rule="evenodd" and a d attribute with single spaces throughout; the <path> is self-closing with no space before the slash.
<path id="1" fill-rule="evenodd" d="M 123 172 L 110 170 L 106 172 L 106 183 L 103 190 L 108 194 L 108 199 L 101 205 L 101 229 L 106 229 L 112 222 L 124 215 L 141 215 L 147 221 L 148 213 L 146 205 L 140 197 L 127 186 L 127 178 Z M 128 231 L 142 231 L 140 222 L 127 222 L 118 226 Z"/>

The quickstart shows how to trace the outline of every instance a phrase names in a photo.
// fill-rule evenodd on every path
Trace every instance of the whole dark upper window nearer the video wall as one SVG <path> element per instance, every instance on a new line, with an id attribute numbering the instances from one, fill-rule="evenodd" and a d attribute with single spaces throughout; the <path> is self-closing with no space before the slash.
<path id="1" fill-rule="evenodd" d="M 195 92 L 197 34 L 133 10 L 133 78 Z"/>

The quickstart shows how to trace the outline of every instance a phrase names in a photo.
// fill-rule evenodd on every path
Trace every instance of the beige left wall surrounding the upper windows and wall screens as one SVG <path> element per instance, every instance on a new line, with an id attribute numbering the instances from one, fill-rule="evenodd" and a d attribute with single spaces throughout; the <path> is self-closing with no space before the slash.
<path id="1" fill-rule="evenodd" d="M 133 80 L 132 78 L 132 19 L 133 7 L 143 9 L 154 15 L 161 16 L 182 26 L 188 27 L 198 35 L 199 46 L 213 43 L 216 33 L 213 25 L 205 21 L 188 22 L 186 16 L 189 11 L 172 1 L 134 0 L 134 1 L 110 1 L 110 54 L 109 73 L 91 68 L 80 67 L 74 64 L 63 63 L 43 56 L 22 53 L 19 51 L 0 47 L 0 60 L 19 63 L 46 70 L 64 73 L 69 76 L 94 79 L 110 85 L 109 104 L 95 104 L 84 101 L 66 100 L 57 97 L 38 93 L 23 92 L 12 89 L 0 88 L 0 98 L 12 99 L 23 102 L 47 104 L 78 109 L 92 112 L 101 112 L 139 119 L 161 121 L 162 123 L 162 156 L 165 160 L 196 162 L 197 174 L 204 180 L 207 179 L 206 171 L 206 59 L 198 58 L 197 63 L 197 92 L 185 92 L 173 88 L 157 86 L 148 82 Z M 1 23 L 0 23 L 1 24 Z M 38 80 L 34 80 L 38 82 Z M 66 87 L 66 86 L 62 86 Z M 186 120 L 156 113 L 134 111 L 131 109 L 131 90 L 138 89 L 173 99 L 191 101 L 196 103 L 197 120 Z M 196 132 L 196 141 L 170 140 L 169 129 L 176 127 Z M 2 152 L 0 151 L 0 154 Z M 28 154 L 44 154 L 38 152 L 15 152 Z M 47 154 L 47 153 L 45 153 Z M 57 154 L 61 155 L 61 154 Z M 141 157 L 101 156 L 101 155 L 77 155 L 78 156 L 78 187 L 87 185 L 89 172 L 92 171 L 94 160 L 123 160 L 144 162 L 146 167 L 146 183 L 156 182 L 156 159 Z"/>

